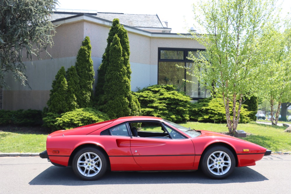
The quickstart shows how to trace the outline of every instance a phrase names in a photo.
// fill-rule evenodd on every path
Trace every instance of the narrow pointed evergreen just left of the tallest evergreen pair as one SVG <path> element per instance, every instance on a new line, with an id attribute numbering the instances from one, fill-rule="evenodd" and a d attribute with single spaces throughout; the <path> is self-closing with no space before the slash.
<path id="1" fill-rule="evenodd" d="M 85 37 L 82 46 L 79 49 L 76 61 L 76 70 L 79 76 L 79 91 L 76 92 L 77 103 L 79 107 L 88 107 L 93 98 L 94 69 L 91 59 L 90 38 Z"/>

